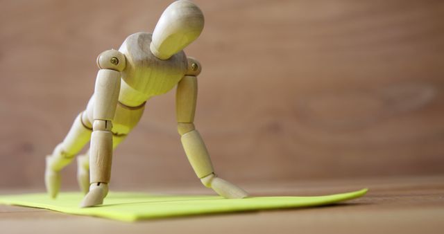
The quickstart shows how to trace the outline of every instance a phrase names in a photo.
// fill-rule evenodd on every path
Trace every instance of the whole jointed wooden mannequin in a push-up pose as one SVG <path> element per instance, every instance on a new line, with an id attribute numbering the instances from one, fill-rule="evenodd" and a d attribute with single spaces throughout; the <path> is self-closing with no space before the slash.
<path id="1" fill-rule="evenodd" d="M 119 50 L 103 51 L 97 57 L 94 94 L 62 143 L 46 156 L 45 185 L 51 197 L 58 195 L 60 170 L 90 141 L 87 153 L 77 157 L 77 179 L 85 193 L 80 206 L 102 204 L 108 194 L 113 150 L 137 125 L 147 100 L 174 87 L 180 140 L 197 177 L 223 197 L 248 196 L 216 177 L 210 154 L 194 126 L 197 76 L 202 66 L 182 50 L 197 39 L 203 24 L 198 6 L 187 0 L 175 1 L 164 10 L 153 34 L 130 35 Z"/>

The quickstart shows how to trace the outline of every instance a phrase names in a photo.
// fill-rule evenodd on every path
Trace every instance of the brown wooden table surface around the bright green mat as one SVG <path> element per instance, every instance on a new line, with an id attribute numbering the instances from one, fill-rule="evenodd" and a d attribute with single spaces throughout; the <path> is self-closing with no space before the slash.
<path id="1" fill-rule="evenodd" d="M 362 187 L 368 194 L 321 208 L 202 215 L 134 224 L 49 210 L 0 206 L 1 233 L 442 233 L 444 176 L 246 184 L 253 195 L 322 195 Z M 156 188 L 193 194 L 202 188 Z M 1 190 L 1 194 L 12 192 Z M 150 192 L 153 192 L 152 190 Z"/>

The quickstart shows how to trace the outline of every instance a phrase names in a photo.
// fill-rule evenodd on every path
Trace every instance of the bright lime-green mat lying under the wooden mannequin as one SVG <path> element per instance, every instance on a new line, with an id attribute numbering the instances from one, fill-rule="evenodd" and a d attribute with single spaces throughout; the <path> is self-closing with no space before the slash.
<path id="1" fill-rule="evenodd" d="M 248 197 L 150 195 L 139 192 L 110 192 L 101 206 L 78 208 L 80 192 L 62 192 L 57 199 L 45 193 L 0 196 L 0 204 L 30 206 L 74 215 L 105 217 L 125 222 L 211 213 L 323 206 L 355 199 L 367 189 L 317 197 Z"/>

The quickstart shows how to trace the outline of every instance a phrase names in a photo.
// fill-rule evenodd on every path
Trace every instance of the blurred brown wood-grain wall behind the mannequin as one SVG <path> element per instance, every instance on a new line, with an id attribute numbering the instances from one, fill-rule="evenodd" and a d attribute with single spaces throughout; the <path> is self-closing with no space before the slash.
<path id="1" fill-rule="evenodd" d="M 0 1 L 0 186 L 43 188 L 44 156 L 94 90 L 96 56 L 171 1 Z M 195 1 L 196 125 L 216 172 L 255 181 L 444 174 L 443 1 Z M 174 91 L 114 156 L 113 188 L 199 181 Z M 75 163 L 64 172 L 75 187 Z"/>

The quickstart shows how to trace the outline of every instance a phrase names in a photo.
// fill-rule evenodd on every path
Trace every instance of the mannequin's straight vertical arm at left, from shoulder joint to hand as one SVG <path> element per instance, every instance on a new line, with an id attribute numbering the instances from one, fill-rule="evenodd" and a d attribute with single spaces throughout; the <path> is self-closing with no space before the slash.
<path id="1" fill-rule="evenodd" d="M 97 58 L 100 70 L 94 87 L 94 111 L 89 150 L 89 192 L 80 206 L 103 203 L 108 194 L 112 163 L 112 120 L 119 98 L 121 71 L 125 56 L 119 51 L 105 51 Z"/>

